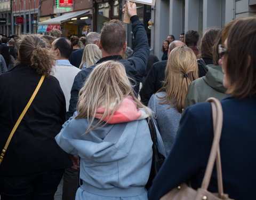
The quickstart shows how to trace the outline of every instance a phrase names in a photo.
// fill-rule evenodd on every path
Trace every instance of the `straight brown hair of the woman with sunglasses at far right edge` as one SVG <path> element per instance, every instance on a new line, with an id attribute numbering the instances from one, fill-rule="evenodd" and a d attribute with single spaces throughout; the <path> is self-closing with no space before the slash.
<path id="1" fill-rule="evenodd" d="M 255 46 L 256 18 L 238 18 L 227 36 L 227 92 L 231 93 L 231 97 L 244 99 L 256 93 Z"/>

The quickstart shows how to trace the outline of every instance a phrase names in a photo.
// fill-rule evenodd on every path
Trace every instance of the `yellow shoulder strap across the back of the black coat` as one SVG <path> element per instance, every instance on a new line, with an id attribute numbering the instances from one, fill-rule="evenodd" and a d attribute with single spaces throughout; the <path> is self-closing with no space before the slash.
<path id="1" fill-rule="evenodd" d="M 45 75 L 42 75 L 42 77 L 41 77 L 41 79 L 40 79 L 38 85 L 36 86 L 36 89 L 35 89 L 34 93 L 32 94 L 31 98 L 29 99 L 29 101 L 28 101 L 28 103 L 27 103 L 27 106 L 24 108 L 24 110 L 22 111 L 20 117 L 18 118 L 17 122 L 15 123 L 15 125 L 14 125 L 14 127 L 13 127 L 12 132 L 11 132 L 11 134 L 9 135 L 9 138 L 7 139 L 7 141 L 6 141 L 6 143 L 5 143 L 5 146 L 4 146 L 3 150 L 2 150 L 2 153 L 1 153 L 1 155 L 0 155 L 0 165 L 1 165 L 2 161 L 3 161 L 3 158 L 4 158 L 4 155 L 5 155 L 6 149 L 7 149 L 7 147 L 9 146 L 9 143 L 10 143 L 12 137 L 13 137 L 14 132 L 16 131 L 17 127 L 19 126 L 19 124 L 20 124 L 20 122 L 21 122 L 21 119 L 22 119 L 22 118 L 24 117 L 24 115 L 26 114 L 26 112 L 27 112 L 29 106 L 31 105 L 32 101 L 33 101 L 34 98 L 36 97 L 36 94 L 37 94 L 39 88 L 41 87 L 41 85 L 42 85 L 42 83 L 43 83 L 43 81 L 44 81 L 44 77 L 45 77 Z"/>

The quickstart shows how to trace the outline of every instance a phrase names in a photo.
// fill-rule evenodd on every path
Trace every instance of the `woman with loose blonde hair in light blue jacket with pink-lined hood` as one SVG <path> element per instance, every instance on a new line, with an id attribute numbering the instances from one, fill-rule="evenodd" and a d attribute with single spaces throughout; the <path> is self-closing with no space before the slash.
<path id="1" fill-rule="evenodd" d="M 81 187 L 76 199 L 147 199 L 152 163 L 149 108 L 133 93 L 122 63 L 97 65 L 79 92 L 77 112 L 55 140 L 79 155 Z M 164 153 L 159 132 L 158 149 Z M 80 161 L 80 165 L 78 165 Z"/>

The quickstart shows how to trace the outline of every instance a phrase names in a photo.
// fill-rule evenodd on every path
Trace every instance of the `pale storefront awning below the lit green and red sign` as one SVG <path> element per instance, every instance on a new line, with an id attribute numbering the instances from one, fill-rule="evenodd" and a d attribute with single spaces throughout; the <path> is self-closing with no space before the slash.
<path id="1" fill-rule="evenodd" d="M 84 15 L 86 13 L 89 13 L 90 10 L 84 10 L 84 11 L 77 11 L 77 12 L 69 12 L 66 14 L 63 14 L 59 17 L 52 18 L 49 20 L 38 22 L 38 25 L 60 25 L 62 22 L 65 22 L 67 20 L 70 20 L 72 18 L 79 17 L 80 15 Z"/>

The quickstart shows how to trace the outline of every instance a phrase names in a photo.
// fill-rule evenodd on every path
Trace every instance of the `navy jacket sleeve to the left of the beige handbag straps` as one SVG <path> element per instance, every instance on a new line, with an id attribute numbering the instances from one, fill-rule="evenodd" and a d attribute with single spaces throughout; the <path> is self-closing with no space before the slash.
<path id="1" fill-rule="evenodd" d="M 189 129 L 188 129 L 189 127 Z M 148 199 L 160 199 L 174 187 L 188 181 L 199 169 L 198 124 L 187 108 L 169 156 L 148 191 Z"/>

